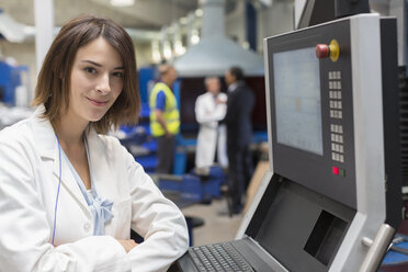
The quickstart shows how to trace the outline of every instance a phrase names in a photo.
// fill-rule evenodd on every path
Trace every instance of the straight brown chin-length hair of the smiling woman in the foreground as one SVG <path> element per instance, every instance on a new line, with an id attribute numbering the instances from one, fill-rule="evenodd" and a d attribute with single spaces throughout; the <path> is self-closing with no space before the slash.
<path id="1" fill-rule="evenodd" d="M 125 67 L 123 90 L 115 103 L 98 122 L 92 122 L 98 133 L 106 133 L 122 124 L 136 124 L 140 112 L 140 95 L 132 38 L 126 31 L 110 19 L 90 15 L 78 16 L 63 26 L 44 59 L 35 88 L 33 105 L 44 104 L 44 117 L 52 124 L 58 122 L 69 105 L 70 73 L 78 48 L 102 36 L 121 55 Z"/>

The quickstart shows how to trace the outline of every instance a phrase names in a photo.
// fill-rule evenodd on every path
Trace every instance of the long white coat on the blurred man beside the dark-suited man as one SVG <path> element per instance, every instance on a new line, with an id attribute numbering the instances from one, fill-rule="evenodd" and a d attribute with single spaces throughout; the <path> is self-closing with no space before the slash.
<path id="1" fill-rule="evenodd" d="M 217 99 L 227 101 L 225 93 L 218 93 Z M 200 124 L 197 146 L 195 151 L 195 167 L 203 168 L 214 165 L 215 148 L 217 147 L 218 162 L 222 167 L 228 166 L 226 154 L 226 127 L 218 126 L 227 112 L 226 103 L 215 103 L 211 92 L 201 94 L 195 101 L 195 118 Z M 218 141 L 218 145 L 217 145 Z"/>

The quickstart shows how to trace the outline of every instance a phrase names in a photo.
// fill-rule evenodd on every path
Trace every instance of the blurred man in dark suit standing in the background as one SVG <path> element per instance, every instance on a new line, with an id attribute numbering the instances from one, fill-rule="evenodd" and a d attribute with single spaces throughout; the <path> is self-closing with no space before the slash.
<path id="1" fill-rule="evenodd" d="M 243 207 L 242 196 L 252 174 L 251 115 L 254 106 L 253 91 L 243 81 L 239 67 L 225 72 L 228 86 L 227 113 L 223 123 L 227 125 L 228 208 L 229 215 L 239 214 Z"/>

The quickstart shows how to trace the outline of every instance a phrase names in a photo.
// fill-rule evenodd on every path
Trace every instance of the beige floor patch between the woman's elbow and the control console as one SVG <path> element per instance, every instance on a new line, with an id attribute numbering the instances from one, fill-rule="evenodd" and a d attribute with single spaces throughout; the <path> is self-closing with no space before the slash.
<path id="1" fill-rule="evenodd" d="M 211 204 L 194 204 L 182 208 L 185 216 L 199 217 L 204 225 L 193 228 L 193 246 L 208 245 L 213 242 L 233 240 L 239 228 L 242 215 L 219 215 L 225 211 L 225 199 L 215 199 Z"/>

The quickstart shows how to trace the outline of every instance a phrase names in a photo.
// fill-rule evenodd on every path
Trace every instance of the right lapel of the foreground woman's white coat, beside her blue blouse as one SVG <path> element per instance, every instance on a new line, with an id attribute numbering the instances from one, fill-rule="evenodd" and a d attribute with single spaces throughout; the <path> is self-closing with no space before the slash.
<path id="1" fill-rule="evenodd" d="M 87 139 L 91 160 L 92 184 L 95 186 L 99 196 L 113 201 L 116 196 L 116 188 L 113 182 L 113 169 L 109 161 L 106 147 L 93 128 L 89 131 Z"/>

